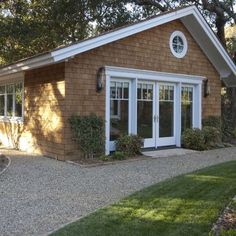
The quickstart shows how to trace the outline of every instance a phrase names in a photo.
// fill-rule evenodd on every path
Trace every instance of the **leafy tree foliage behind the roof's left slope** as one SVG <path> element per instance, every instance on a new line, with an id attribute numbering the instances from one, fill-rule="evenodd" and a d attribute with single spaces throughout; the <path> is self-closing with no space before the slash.
<path id="1" fill-rule="evenodd" d="M 118 0 L 1 1 L 0 64 L 132 22 L 137 15 L 125 5 Z"/>

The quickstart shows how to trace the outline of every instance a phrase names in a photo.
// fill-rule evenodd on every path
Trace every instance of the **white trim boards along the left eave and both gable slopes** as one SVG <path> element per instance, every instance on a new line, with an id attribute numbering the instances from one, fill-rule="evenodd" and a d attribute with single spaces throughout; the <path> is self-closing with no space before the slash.
<path id="1" fill-rule="evenodd" d="M 54 51 L 39 56 L 35 56 L 33 58 L 22 60 L 20 62 L 17 62 L 15 64 L 0 69 L 0 76 L 65 61 L 68 58 L 74 57 L 75 55 L 78 55 L 80 53 L 89 51 L 91 49 L 103 46 L 105 44 L 117 41 L 122 38 L 126 38 L 128 36 L 154 28 L 156 26 L 165 24 L 167 22 L 176 19 L 181 19 L 184 22 L 187 19 L 187 17 L 192 17 L 191 19 L 197 20 L 198 25 L 201 26 L 206 35 L 209 37 L 211 44 L 214 46 L 213 50 L 216 49 L 215 51 L 218 51 L 219 55 L 225 61 L 226 64 L 223 66 L 224 67 L 223 70 L 224 72 L 226 71 L 228 74 L 225 75 L 225 77 L 232 74 L 233 78 L 235 78 L 236 66 L 234 65 L 233 61 L 227 54 L 226 50 L 223 48 L 223 46 L 221 45 L 221 43 L 219 42 L 213 31 L 211 30 L 211 28 L 209 27 L 209 25 L 207 24 L 207 22 L 205 21 L 205 19 L 195 6 L 189 6 L 180 10 L 159 15 L 150 20 L 142 21 L 95 38 L 87 39 L 85 41 L 82 41 L 80 43 L 65 48 L 56 49 Z M 200 42 L 200 40 L 198 40 L 198 37 L 201 36 L 200 35 L 197 36 L 195 40 Z M 209 49 L 208 51 L 207 50 L 205 50 L 205 53 L 209 54 L 210 50 L 212 49 Z M 214 64 L 214 61 L 212 61 L 212 63 Z M 215 67 L 219 67 L 219 65 L 215 63 Z M 219 68 L 219 70 L 220 69 L 222 70 L 222 68 Z M 223 76 L 223 72 L 221 73 L 221 76 Z"/>

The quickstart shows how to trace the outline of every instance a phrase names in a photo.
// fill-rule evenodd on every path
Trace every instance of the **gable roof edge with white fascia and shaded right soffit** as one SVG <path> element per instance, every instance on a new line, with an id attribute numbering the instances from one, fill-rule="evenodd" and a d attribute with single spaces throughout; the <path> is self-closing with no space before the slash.
<path id="1" fill-rule="evenodd" d="M 75 55 L 80 53 L 176 19 L 182 21 L 191 33 L 192 37 L 196 40 L 208 59 L 214 65 L 226 85 L 236 87 L 236 66 L 196 6 L 189 6 L 160 14 L 151 19 L 128 25 L 97 37 L 89 38 L 69 46 L 57 48 L 50 52 L 45 52 L 18 61 L 0 68 L 0 76 L 59 63 L 69 58 L 73 58 Z"/>

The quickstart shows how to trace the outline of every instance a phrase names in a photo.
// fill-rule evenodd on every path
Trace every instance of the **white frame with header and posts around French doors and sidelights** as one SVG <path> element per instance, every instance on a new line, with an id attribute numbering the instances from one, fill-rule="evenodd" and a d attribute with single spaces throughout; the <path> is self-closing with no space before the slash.
<path id="1" fill-rule="evenodd" d="M 138 81 L 154 81 L 163 83 L 176 84 L 176 117 L 175 117 L 175 138 L 176 146 L 181 146 L 181 86 L 192 85 L 194 86 L 194 119 L 193 127 L 201 128 L 202 119 L 202 81 L 205 79 L 203 76 L 186 75 L 165 73 L 148 70 L 138 70 L 123 67 L 105 66 L 106 76 L 106 109 L 105 109 L 105 152 L 109 154 L 110 147 L 110 80 L 112 78 L 129 80 L 130 86 L 130 106 L 129 106 L 129 133 L 137 134 L 137 83 Z"/>

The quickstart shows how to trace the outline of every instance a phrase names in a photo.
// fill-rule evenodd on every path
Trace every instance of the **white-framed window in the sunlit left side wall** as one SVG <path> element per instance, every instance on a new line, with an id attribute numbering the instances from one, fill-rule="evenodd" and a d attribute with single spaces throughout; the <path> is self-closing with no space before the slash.
<path id="1" fill-rule="evenodd" d="M 0 85 L 0 117 L 21 119 L 23 117 L 23 83 Z"/>

